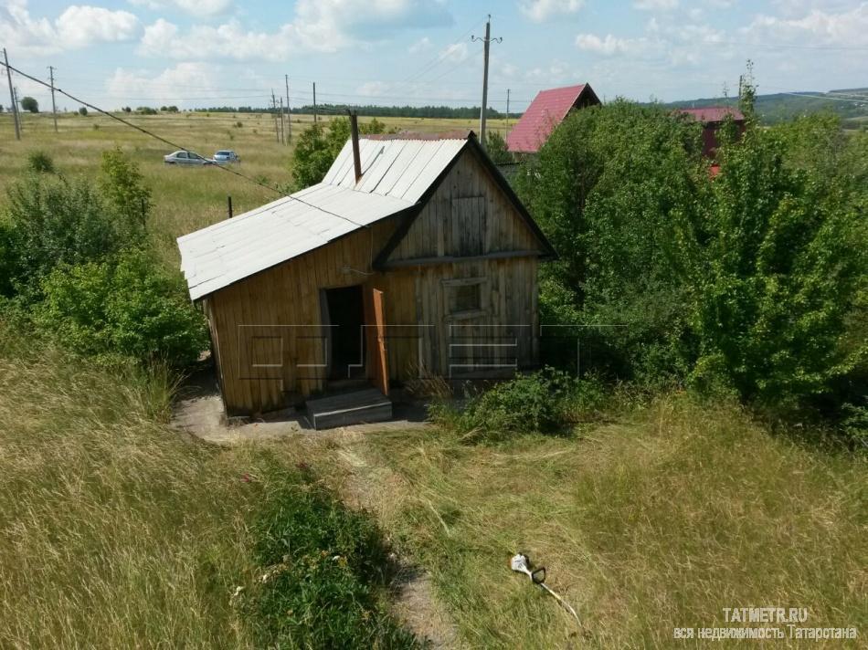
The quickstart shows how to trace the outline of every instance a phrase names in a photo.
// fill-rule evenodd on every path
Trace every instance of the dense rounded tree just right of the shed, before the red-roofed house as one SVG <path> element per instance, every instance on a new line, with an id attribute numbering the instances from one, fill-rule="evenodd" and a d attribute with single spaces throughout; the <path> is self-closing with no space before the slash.
<path id="1" fill-rule="evenodd" d="M 595 349 L 600 371 L 686 375 L 692 343 L 679 229 L 689 232 L 699 218 L 707 184 L 699 126 L 627 101 L 579 110 L 515 183 L 559 254 L 541 268 L 541 320 L 581 326 L 573 331 L 583 350 Z"/>

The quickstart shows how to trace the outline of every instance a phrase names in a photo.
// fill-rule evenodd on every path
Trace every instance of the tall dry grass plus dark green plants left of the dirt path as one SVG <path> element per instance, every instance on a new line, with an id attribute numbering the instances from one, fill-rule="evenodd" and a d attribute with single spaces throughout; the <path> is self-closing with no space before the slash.
<path id="1" fill-rule="evenodd" d="M 414 645 L 379 529 L 292 450 L 185 438 L 163 372 L 30 345 L 0 322 L 0 647 Z"/>

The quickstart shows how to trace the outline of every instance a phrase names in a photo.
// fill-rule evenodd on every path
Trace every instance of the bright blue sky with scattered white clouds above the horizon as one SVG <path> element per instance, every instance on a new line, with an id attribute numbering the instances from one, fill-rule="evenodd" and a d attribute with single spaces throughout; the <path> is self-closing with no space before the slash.
<path id="1" fill-rule="evenodd" d="M 87 2 L 88 0 L 84 0 Z M 524 110 L 589 82 L 602 100 L 868 86 L 868 2 L 854 0 L 0 0 L 10 64 L 106 109 L 311 103 Z M 47 89 L 13 75 L 45 109 Z M 5 79 L 3 79 L 5 82 Z M 7 105 L 5 83 L 0 104 Z M 58 108 L 77 105 L 60 98 Z"/>

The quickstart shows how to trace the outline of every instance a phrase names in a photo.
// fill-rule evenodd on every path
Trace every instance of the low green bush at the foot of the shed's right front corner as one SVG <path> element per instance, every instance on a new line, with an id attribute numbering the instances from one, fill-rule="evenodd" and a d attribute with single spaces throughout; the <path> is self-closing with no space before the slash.
<path id="1" fill-rule="evenodd" d="M 545 368 L 473 395 L 461 409 L 433 404 L 429 414 L 465 440 L 496 441 L 517 434 L 563 432 L 596 412 L 604 400 L 597 380 L 579 380 Z"/>

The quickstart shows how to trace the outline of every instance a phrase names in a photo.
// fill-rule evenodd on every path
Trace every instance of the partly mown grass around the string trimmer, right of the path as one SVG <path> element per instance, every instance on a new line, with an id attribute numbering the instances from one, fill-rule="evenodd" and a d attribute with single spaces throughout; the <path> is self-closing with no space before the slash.
<path id="1" fill-rule="evenodd" d="M 669 647 L 674 627 L 727 626 L 723 608 L 742 606 L 868 626 L 864 459 L 770 435 L 735 407 L 672 397 L 580 438 L 469 446 L 417 431 L 364 446 L 391 470 L 372 488 L 386 529 L 473 647 Z M 517 551 L 547 566 L 581 629 L 509 571 Z"/>

